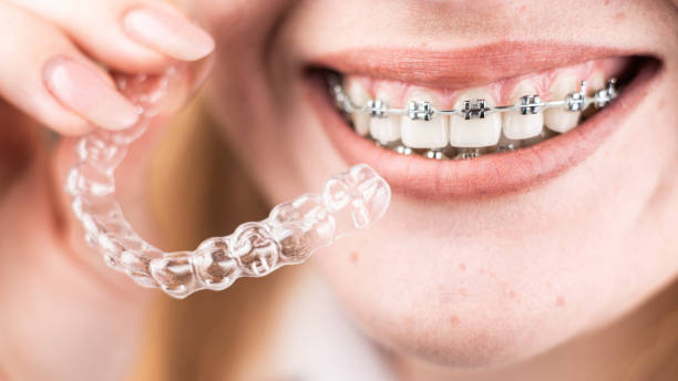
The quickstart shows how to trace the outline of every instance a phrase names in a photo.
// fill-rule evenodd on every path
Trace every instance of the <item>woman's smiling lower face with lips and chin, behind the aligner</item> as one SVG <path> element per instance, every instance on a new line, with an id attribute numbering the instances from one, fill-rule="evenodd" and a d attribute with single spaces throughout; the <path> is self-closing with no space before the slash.
<path id="1" fill-rule="evenodd" d="M 271 203 L 318 190 L 356 163 L 391 184 L 382 222 L 314 259 L 377 341 L 445 364 L 516 361 L 609 322 L 678 274 L 671 1 L 192 7 L 218 44 L 212 109 Z M 514 104 L 532 93 L 555 100 L 579 80 L 600 89 L 613 75 L 626 85 L 576 126 L 576 114 L 554 110 L 530 120 L 357 117 L 351 127 L 317 69 L 339 72 L 357 103 L 380 97 L 400 107 L 473 97 Z M 496 144 L 497 126 L 523 147 L 435 159 L 355 131 L 400 137 L 417 152 L 442 138 L 456 146 L 444 153 L 458 155 Z M 565 133 L 531 137 L 540 131 Z"/>

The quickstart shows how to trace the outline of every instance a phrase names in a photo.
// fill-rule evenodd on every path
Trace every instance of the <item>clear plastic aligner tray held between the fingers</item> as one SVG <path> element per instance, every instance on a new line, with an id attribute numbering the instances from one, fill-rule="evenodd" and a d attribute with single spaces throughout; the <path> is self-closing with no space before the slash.
<path id="1" fill-rule="evenodd" d="M 305 194 L 276 206 L 268 218 L 246 223 L 225 237 L 203 241 L 194 251 L 164 253 L 143 240 L 125 220 L 115 199 L 114 171 L 126 147 L 147 128 L 160 101 L 178 76 L 119 78 L 120 91 L 140 107 L 136 126 L 97 130 L 78 144 L 79 162 L 66 190 L 85 229 L 86 241 L 105 262 L 144 287 L 175 298 L 202 289 L 223 290 L 239 277 L 263 277 L 305 261 L 317 249 L 364 229 L 386 213 L 390 188 L 372 168 L 360 164 L 331 177 L 321 194 Z"/>

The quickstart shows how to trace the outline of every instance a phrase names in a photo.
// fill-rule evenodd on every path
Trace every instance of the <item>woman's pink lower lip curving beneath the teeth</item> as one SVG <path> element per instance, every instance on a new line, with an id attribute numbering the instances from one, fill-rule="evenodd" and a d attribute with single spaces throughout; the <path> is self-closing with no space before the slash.
<path id="1" fill-rule="evenodd" d="M 527 148 L 454 161 L 405 156 L 378 147 L 348 126 L 321 80 L 307 81 L 307 94 L 340 155 L 350 165 L 370 165 L 394 193 L 424 199 L 479 198 L 532 189 L 582 163 L 645 97 L 655 73 L 656 68 L 645 65 L 619 99 L 563 135 Z"/>

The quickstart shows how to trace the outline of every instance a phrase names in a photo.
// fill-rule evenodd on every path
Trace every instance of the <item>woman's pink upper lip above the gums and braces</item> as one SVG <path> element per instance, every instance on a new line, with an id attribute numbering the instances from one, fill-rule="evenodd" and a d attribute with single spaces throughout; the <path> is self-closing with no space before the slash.
<path id="1" fill-rule="evenodd" d="M 312 59 L 311 64 L 346 74 L 459 89 L 622 55 L 643 54 L 605 47 L 504 41 L 453 51 L 360 48 L 325 53 Z"/>

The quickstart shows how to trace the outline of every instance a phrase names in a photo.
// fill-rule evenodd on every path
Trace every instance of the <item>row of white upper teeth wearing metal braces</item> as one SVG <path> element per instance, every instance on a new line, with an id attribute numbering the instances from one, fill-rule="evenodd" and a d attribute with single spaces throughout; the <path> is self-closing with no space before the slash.
<path id="1" fill-rule="evenodd" d="M 575 83 L 573 75 L 558 78 L 551 89 L 553 101 L 548 102 L 530 83 L 520 83 L 512 97 L 515 103 L 503 106 L 494 106 L 490 92 L 476 89 L 463 93 L 454 109 L 441 110 L 434 106 L 432 94 L 418 92 L 410 96 L 407 107 L 397 109 L 390 106 L 387 92 L 378 91 L 376 99 L 370 99 L 353 81 L 347 94 L 339 79 L 330 78 L 338 105 L 351 115 L 359 134 L 369 132 L 384 145 L 400 140 L 408 148 L 430 150 L 493 146 L 504 136 L 527 140 L 541 135 L 544 125 L 563 133 L 577 125 L 583 110 L 592 104 L 604 107 L 617 96 L 615 79 L 592 96 L 586 93 L 586 82 L 579 82 L 578 89 Z"/>

